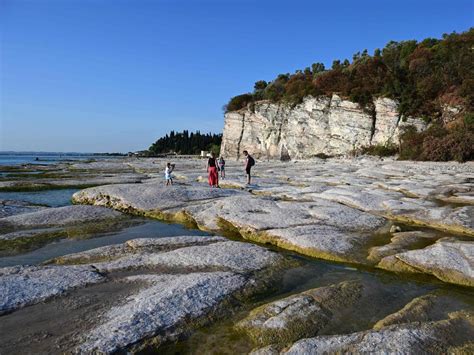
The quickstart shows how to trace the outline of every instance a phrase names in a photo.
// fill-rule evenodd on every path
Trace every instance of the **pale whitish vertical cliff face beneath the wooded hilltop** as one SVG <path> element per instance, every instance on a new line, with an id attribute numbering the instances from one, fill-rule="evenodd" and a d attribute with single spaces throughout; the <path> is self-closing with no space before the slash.
<path id="1" fill-rule="evenodd" d="M 358 104 L 332 97 L 307 97 L 291 108 L 257 102 L 225 115 L 221 154 L 239 159 L 243 150 L 257 158 L 305 159 L 317 154 L 346 155 L 376 144 L 398 144 L 401 128 L 426 128 L 417 118 L 401 119 L 396 101 L 378 98 L 375 113 Z"/>

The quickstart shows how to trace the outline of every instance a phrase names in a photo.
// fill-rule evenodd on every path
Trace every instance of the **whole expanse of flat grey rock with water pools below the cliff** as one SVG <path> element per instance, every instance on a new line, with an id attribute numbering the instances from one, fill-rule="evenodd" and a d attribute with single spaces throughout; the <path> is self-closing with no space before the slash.
<path id="1" fill-rule="evenodd" d="M 176 163 L 4 168 L 0 353 L 474 351 L 472 163 Z"/>

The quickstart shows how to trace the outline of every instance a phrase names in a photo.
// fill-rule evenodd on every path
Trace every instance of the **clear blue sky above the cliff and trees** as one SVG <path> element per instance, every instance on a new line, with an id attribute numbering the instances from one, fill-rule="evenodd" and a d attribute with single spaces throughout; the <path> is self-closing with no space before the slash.
<path id="1" fill-rule="evenodd" d="M 0 150 L 220 132 L 259 79 L 473 25 L 472 0 L 0 0 Z"/>

